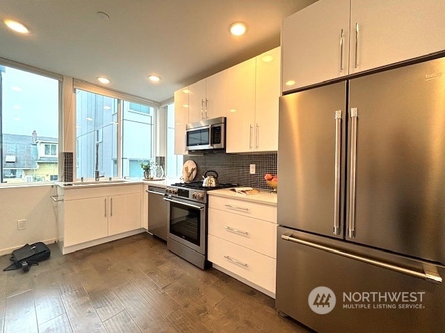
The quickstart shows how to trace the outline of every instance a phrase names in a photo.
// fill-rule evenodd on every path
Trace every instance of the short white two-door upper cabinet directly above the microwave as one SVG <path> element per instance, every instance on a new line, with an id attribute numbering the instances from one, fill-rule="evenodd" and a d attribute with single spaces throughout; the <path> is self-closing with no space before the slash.
<path id="1" fill-rule="evenodd" d="M 227 71 L 190 85 L 188 121 L 191 123 L 225 117 L 227 103 Z"/>

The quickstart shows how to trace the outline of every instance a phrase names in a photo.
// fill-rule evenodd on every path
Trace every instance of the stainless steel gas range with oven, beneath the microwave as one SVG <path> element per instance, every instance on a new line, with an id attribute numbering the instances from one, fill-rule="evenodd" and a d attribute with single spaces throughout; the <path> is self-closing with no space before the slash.
<path id="1" fill-rule="evenodd" d="M 167 248 L 201 269 L 207 262 L 207 191 L 235 187 L 220 184 L 203 187 L 202 182 L 177 183 L 165 189 L 168 201 Z"/>

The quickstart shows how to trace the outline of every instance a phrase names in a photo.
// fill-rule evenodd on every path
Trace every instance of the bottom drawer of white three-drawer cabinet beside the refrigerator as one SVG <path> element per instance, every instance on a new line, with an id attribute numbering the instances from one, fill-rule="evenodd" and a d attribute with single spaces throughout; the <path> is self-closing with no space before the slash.
<path id="1" fill-rule="evenodd" d="M 209 234 L 209 261 L 275 293 L 277 261 Z"/>

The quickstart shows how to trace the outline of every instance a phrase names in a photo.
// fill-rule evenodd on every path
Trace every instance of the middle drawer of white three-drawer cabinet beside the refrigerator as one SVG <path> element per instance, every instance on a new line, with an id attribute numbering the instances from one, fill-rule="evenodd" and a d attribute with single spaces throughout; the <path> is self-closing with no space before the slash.
<path id="1" fill-rule="evenodd" d="M 209 208 L 209 234 L 277 257 L 277 225 L 274 223 Z"/>

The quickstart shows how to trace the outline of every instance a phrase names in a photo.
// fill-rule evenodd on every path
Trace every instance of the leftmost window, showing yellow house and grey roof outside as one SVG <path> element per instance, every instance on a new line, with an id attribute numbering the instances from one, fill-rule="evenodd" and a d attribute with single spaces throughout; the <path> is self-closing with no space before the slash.
<path id="1" fill-rule="evenodd" d="M 54 78 L 0 66 L 1 182 L 57 179 L 59 87 Z"/>

